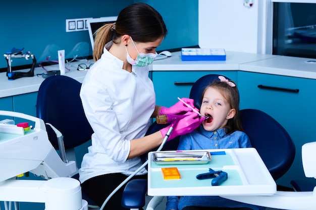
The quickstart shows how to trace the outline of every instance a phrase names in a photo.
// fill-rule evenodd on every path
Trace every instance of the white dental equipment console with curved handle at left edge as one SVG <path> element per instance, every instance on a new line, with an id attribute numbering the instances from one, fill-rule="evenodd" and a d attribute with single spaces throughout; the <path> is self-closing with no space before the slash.
<path id="1" fill-rule="evenodd" d="M 48 140 L 43 120 L 26 114 L 0 111 L 0 115 L 35 122 L 20 132 L 16 125 L 0 124 L 0 200 L 44 202 L 46 210 L 87 210 L 80 182 L 70 178 L 78 169 L 75 161 L 63 161 Z M 31 172 L 47 180 L 21 180 Z"/>

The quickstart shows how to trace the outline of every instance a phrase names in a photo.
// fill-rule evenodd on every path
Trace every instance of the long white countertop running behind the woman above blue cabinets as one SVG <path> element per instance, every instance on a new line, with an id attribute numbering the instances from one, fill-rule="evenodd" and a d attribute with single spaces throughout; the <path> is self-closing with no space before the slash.
<path id="1" fill-rule="evenodd" d="M 312 62 L 308 62 L 312 61 Z M 66 76 L 82 82 L 87 71 L 77 71 L 82 61 L 72 62 L 66 70 Z M 92 61 L 90 61 L 92 62 Z M 45 66 L 48 70 L 57 70 L 58 65 Z M 155 60 L 149 66 L 150 71 L 245 71 L 265 73 L 316 80 L 316 59 L 279 55 L 266 55 L 226 51 L 224 61 L 182 61 L 180 52 L 173 52 L 171 57 Z M 27 72 L 29 69 L 21 70 Z M 36 74 L 43 73 L 41 67 L 34 69 L 34 77 L 19 78 L 9 81 L 6 73 L 0 73 L 0 98 L 37 92 L 44 79 Z"/>

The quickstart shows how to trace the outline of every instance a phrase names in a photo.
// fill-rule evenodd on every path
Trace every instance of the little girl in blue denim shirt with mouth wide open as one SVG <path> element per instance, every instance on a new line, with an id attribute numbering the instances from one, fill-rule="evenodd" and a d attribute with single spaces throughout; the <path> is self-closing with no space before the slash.
<path id="1" fill-rule="evenodd" d="M 178 150 L 205 150 L 251 147 L 239 119 L 239 92 L 223 76 L 208 85 L 202 94 L 200 113 L 208 116 L 198 129 L 182 135 Z M 166 210 L 261 209 L 220 196 L 168 196 Z M 262 208 L 264 209 L 264 208 Z"/>

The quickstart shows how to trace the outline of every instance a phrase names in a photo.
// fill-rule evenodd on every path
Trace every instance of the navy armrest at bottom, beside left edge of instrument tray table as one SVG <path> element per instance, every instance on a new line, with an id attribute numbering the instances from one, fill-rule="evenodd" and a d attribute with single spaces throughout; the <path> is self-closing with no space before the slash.
<path id="1" fill-rule="evenodd" d="M 141 208 L 145 205 L 147 193 L 146 179 L 130 180 L 124 188 L 122 206 L 124 208 Z"/>

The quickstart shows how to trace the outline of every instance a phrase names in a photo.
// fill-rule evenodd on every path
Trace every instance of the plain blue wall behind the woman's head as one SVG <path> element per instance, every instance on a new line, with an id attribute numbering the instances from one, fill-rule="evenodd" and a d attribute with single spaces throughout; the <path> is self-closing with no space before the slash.
<path id="1" fill-rule="evenodd" d="M 42 61 L 47 55 L 58 59 L 57 50 L 65 49 L 70 56 L 77 43 L 86 42 L 92 54 L 88 31 L 67 32 L 66 19 L 117 16 L 126 6 L 144 2 L 163 16 L 169 31 L 157 50 L 198 45 L 198 0 L 56 0 L 56 1 L 3 1 L 0 7 L 0 54 L 12 47 L 31 51 Z M 47 51 L 47 49 L 50 49 Z M 72 57 L 73 55 L 71 55 Z M 70 58 L 70 57 L 66 57 Z M 30 64 L 31 60 L 14 59 L 12 66 Z M 0 57 L 0 68 L 7 67 Z"/>

